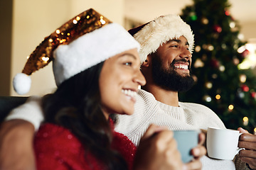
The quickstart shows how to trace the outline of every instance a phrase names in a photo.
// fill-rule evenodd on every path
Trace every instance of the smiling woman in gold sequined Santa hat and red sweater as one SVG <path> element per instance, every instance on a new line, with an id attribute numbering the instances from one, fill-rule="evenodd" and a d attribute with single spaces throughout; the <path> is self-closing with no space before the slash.
<path id="1" fill-rule="evenodd" d="M 24 74 L 53 60 L 58 89 L 42 100 L 46 120 L 34 142 L 37 169 L 181 169 L 171 132 L 151 126 L 136 149 L 113 130 L 110 115 L 131 115 L 138 86 L 146 83 L 138 50 L 124 28 L 93 9 L 36 48 L 14 78 L 14 89 L 26 93 Z"/>

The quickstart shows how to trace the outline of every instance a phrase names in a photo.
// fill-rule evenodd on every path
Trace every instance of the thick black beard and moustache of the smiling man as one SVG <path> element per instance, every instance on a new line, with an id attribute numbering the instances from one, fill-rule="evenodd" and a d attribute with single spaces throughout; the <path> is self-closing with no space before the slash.
<path id="1" fill-rule="evenodd" d="M 188 76 L 181 76 L 176 72 L 176 62 L 187 62 L 185 59 L 174 60 L 169 69 L 164 69 L 159 57 L 152 56 L 152 77 L 156 85 L 168 91 L 188 91 L 193 86 L 194 80 L 191 77 L 190 61 L 188 61 Z"/>

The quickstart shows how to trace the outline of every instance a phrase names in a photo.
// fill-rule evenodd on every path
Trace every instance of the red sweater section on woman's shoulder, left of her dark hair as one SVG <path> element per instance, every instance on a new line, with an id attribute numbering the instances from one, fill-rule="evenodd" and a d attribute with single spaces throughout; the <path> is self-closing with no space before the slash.
<path id="1" fill-rule="evenodd" d="M 38 169 L 102 169 L 97 159 L 87 153 L 73 133 L 59 125 L 46 123 L 39 128 L 34 149 Z M 89 162 L 89 163 L 88 163 Z"/>

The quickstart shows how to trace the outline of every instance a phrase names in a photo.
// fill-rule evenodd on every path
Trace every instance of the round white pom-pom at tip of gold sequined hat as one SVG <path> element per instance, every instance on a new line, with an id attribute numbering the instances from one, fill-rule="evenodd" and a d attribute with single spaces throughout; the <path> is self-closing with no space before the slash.
<path id="1" fill-rule="evenodd" d="M 18 73 L 14 77 L 13 85 L 17 94 L 26 94 L 31 88 L 31 77 L 27 74 Z"/>

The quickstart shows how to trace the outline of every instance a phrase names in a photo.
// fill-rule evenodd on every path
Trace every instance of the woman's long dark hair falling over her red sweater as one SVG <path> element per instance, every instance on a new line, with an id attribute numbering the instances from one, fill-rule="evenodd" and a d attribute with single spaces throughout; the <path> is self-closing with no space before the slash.
<path id="1" fill-rule="evenodd" d="M 123 170 L 127 164 L 111 149 L 112 129 L 100 104 L 99 78 L 103 64 L 76 74 L 60 84 L 54 94 L 44 96 L 43 109 L 47 123 L 68 128 L 85 151 L 94 154 L 107 169 Z"/>

